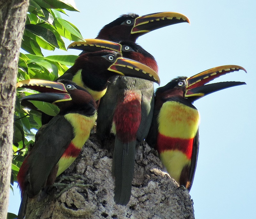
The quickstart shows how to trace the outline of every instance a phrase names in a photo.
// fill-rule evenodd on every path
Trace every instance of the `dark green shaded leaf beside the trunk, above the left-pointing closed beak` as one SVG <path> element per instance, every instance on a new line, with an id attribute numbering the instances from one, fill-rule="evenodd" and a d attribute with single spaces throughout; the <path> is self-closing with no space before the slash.
<path id="1" fill-rule="evenodd" d="M 43 26 L 35 25 L 35 24 L 27 24 L 27 25 L 25 25 L 25 29 L 30 31 L 31 33 L 34 33 L 38 36 L 43 37 L 44 40 L 46 40 L 53 46 L 59 48 L 56 37 L 55 37 L 54 33 L 52 33 L 51 30 L 49 30 Z"/>

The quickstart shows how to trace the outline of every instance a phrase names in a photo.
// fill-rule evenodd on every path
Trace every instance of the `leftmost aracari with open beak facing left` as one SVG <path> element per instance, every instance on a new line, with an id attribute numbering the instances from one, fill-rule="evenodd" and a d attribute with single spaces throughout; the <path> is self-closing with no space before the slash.
<path id="1" fill-rule="evenodd" d="M 97 105 L 88 91 L 68 80 L 32 79 L 17 83 L 17 87 L 43 92 L 23 97 L 21 103 L 37 100 L 60 108 L 60 113 L 37 132 L 35 144 L 17 175 L 22 197 L 18 219 L 23 219 L 27 198 L 47 190 L 79 155 L 95 124 Z"/>

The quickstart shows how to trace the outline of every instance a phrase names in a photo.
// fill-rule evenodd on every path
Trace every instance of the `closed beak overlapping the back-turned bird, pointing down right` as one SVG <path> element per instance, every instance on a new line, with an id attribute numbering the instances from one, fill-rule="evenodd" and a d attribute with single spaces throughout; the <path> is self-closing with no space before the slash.
<path id="1" fill-rule="evenodd" d="M 108 70 L 123 76 L 138 77 L 160 84 L 160 78 L 153 69 L 132 59 L 123 57 L 117 58 L 116 62 L 113 63 Z"/>

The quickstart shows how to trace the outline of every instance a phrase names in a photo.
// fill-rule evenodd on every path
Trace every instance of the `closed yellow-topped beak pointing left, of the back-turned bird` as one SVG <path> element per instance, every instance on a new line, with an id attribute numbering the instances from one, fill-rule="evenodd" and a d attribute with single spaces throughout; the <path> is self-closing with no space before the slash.
<path id="1" fill-rule="evenodd" d="M 108 40 L 100 39 L 85 39 L 83 41 L 73 42 L 68 46 L 68 49 L 79 49 L 86 52 L 96 52 L 101 51 L 102 49 L 110 49 L 116 52 L 122 52 L 122 45 Z"/>

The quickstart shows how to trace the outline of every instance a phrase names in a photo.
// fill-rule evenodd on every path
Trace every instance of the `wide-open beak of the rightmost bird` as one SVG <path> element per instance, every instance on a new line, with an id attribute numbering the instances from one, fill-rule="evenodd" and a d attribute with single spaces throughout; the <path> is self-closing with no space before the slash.
<path id="1" fill-rule="evenodd" d="M 236 82 L 236 81 L 227 81 L 227 82 L 219 82 L 213 84 L 206 84 L 221 75 L 225 75 L 227 73 L 231 73 L 234 71 L 244 70 L 246 73 L 247 71 L 238 65 L 223 65 L 219 67 L 215 67 L 212 69 L 208 69 L 203 71 L 199 74 L 196 74 L 192 77 L 188 77 L 187 81 L 187 88 L 185 92 L 185 98 L 189 98 L 193 101 L 207 95 L 213 93 L 215 91 L 220 91 L 222 89 L 228 87 L 234 87 L 237 85 L 246 84 L 244 82 Z M 205 85 L 206 84 L 206 85 Z"/>

